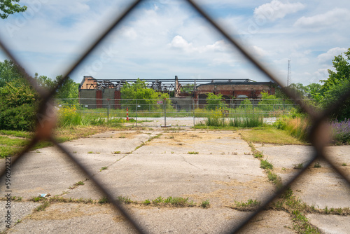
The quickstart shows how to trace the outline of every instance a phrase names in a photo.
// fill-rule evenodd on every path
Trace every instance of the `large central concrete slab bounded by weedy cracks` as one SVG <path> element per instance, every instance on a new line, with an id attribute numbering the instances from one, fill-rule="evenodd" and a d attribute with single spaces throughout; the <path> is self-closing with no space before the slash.
<path id="1" fill-rule="evenodd" d="M 237 137 L 232 132 L 165 133 L 96 177 L 114 195 L 138 201 L 181 196 L 195 202 L 210 199 L 212 205 L 223 206 L 235 200 L 263 200 L 274 186 L 259 168 L 259 160 L 251 156 L 248 144 Z M 94 191 L 87 182 L 64 196 L 101 198 Z"/>

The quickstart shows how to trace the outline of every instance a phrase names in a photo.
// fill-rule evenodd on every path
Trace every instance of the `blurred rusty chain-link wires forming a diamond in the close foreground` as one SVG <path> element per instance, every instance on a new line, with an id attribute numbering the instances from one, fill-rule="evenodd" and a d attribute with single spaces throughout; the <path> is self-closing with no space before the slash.
<path id="1" fill-rule="evenodd" d="M 127 8 L 127 10 L 124 13 L 119 15 L 118 18 L 114 19 L 113 23 L 111 23 L 111 25 L 99 36 L 99 38 L 96 41 L 92 41 L 91 46 L 85 50 L 85 53 L 83 53 L 83 55 L 78 60 L 76 60 L 76 62 L 71 64 L 69 67 L 67 67 L 66 72 L 64 73 L 64 76 L 62 77 L 62 79 L 59 81 L 57 87 L 64 82 L 64 79 L 69 74 L 71 74 L 81 62 L 83 62 L 83 60 L 87 57 L 87 55 L 89 55 L 92 52 L 92 50 L 94 50 L 94 48 L 96 48 L 99 45 L 99 43 L 115 27 L 120 25 L 120 23 L 123 22 L 123 20 L 127 17 L 127 15 L 129 15 L 132 11 L 134 11 L 134 9 L 137 8 L 137 6 L 141 2 L 142 2 L 141 0 L 134 1 L 134 3 L 131 4 L 130 7 Z M 190 6 L 193 7 L 193 9 L 195 9 L 195 11 L 200 13 L 200 15 L 202 15 L 203 18 L 207 20 L 207 22 L 209 22 L 211 26 L 213 26 L 217 30 L 218 34 L 221 34 L 221 36 L 223 36 L 229 43 L 231 43 L 233 47 L 237 48 L 237 50 L 239 50 L 241 54 L 244 57 L 246 57 L 246 59 L 249 60 L 256 68 L 258 68 L 263 74 L 265 74 L 271 81 L 274 81 L 276 84 L 283 87 L 279 79 L 276 78 L 276 76 L 274 76 L 274 74 L 272 74 L 269 71 L 269 69 L 264 67 L 262 62 L 256 60 L 255 57 L 251 55 L 251 53 L 248 53 L 248 50 L 244 46 L 242 46 L 241 43 L 237 41 L 237 39 L 230 36 L 230 34 L 228 34 L 225 31 L 225 29 L 223 29 L 223 27 L 219 26 L 214 20 L 212 20 L 212 18 L 209 17 L 209 15 L 206 12 L 204 12 L 202 8 L 195 3 L 195 1 L 187 0 L 187 2 L 188 4 L 190 4 Z M 20 64 L 18 60 L 15 59 L 15 57 L 10 52 L 10 50 L 8 50 L 8 48 L 6 48 L 6 46 L 4 46 L 3 42 L 1 41 L 0 41 L 0 46 L 1 48 L 3 48 L 3 50 L 8 55 L 10 60 L 13 60 L 17 64 Z M 37 116 L 40 118 L 38 118 L 36 134 L 34 138 L 31 140 L 31 142 L 22 151 L 22 153 L 20 153 L 19 156 L 11 159 L 12 165 L 15 165 L 15 163 L 20 158 L 25 156 L 25 153 L 27 153 L 29 149 L 31 149 L 31 147 L 34 146 L 36 143 L 45 139 L 49 139 L 53 144 L 55 144 L 55 146 L 57 146 L 62 152 L 64 152 L 66 156 L 70 158 L 70 160 L 76 163 L 76 165 L 80 168 L 80 170 L 87 175 L 88 179 L 90 179 L 95 184 L 97 189 L 101 191 L 104 195 L 106 195 L 106 198 L 113 204 L 113 206 L 116 207 L 116 209 L 121 214 L 123 214 L 125 219 L 129 221 L 130 225 L 139 233 L 143 233 L 144 228 L 140 226 L 139 222 L 134 218 L 134 216 L 130 214 L 130 212 L 128 212 L 128 210 L 125 209 L 123 205 L 120 204 L 120 201 L 116 200 L 116 196 L 112 195 L 109 188 L 104 184 L 102 184 L 101 181 L 97 180 L 96 177 L 94 177 L 92 173 L 89 170 L 87 170 L 85 166 L 82 165 L 82 163 L 78 160 L 78 158 L 74 156 L 74 154 L 69 153 L 69 151 L 67 151 L 67 149 L 64 146 L 58 144 L 55 138 L 52 137 L 52 128 L 55 123 L 55 115 L 52 114 L 54 113 L 54 111 L 52 110 L 54 109 L 53 107 L 54 105 L 52 104 L 51 99 L 52 99 L 52 96 L 55 94 L 57 87 L 52 88 L 52 90 L 49 90 L 48 92 L 47 90 L 41 90 L 41 88 L 36 84 L 36 81 L 30 76 L 28 76 L 24 70 L 22 71 L 22 74 L 25 76 L 25 78 L 27 78 L 27 81 L 29 81 L 29 83 L 31 83 L 31 85 L 33 85 L 33 87 L 41 95 L 42 102 L 38 108 L 38 113 L 37 113 Z M 294 99 L 295 102 L 299 104 L 300 108 L 306 113 L 308 113 L 309 118 L 311 118 L 312 125 L 309 131 L 309 139 L 313 145 L 314 153 L 309 158 L 307 158 L 307 161 L 304 167 L 302 167 L 302 170 L 300 170 L 297 174 L 295 174 L 295 177 L 293 177 L 292 179 L 288 179 L 286 183 L 283 183 L 283 186 L 281 186 L 281 188 L 279 188 L 279 190 L 276 193 L 274 193 L 274 195 L 272 195 L 269 198 L 265 198 L 265 200 L 262 202 L 259 209 L 248 214 L 246 219 L 244 219 L 244 221 L 241 221 L 241 223 L 239 223 L 238 225 L 232 224 L 232 226 L 228 228 L 228 230 L 223 230 L 223 231 L 227 231 L 229 233 L 236 233 L 242 228 L 244 228 L 247 225 L 247 223 L 249 223 L 249 221 L 252 221 L 252 219 L 254 219 L 255 216 L 257 216 L 260 212 L 262 212 L 265 209 L 265 207 L 269 205 L 270 202 L 272 202 L 275 198 L 278 198 L 279 195 L 283 193 L 283 191 L 286 191 L 286 189 L 288 189 L 290 185 L 293 185 L 293 183 L 297 183 L 297 179 L 300 179 L 300 177 L 307 170 L 307 167 L 309 167 L 309 165 L 311 164 L 316 163 L 316 160 L 321 160 L 321 159 L 325 160 L 332 167 L 333 170 L 335 170 L 343 179 L 346 180 L 348 184 L 350 184 L 349 178 L 346 177 L 346 174 L 342 172 L 342 170 L 339 170 L 338 167 L 335 165 L 335 162 L 332 160 L 332 158 L 330 158 L 330 156 L 328 156 L 328 154 L 325 153 L 325 146 L 327 144 L 327 138 L 329 137 L 329 132 L 325 126 L 325 120 L 327 116 L 330 115 L 332 111 L 337 109 L 340 106 L 340 104 L 342 104 L 342 102 L 344 102 L 344 100 L 350 95 L 350 90 L 348 90 L 348 92 L 345 95 L 342 95 L 342 97 L 339 97 L 337 104 L 330 106 L 329 109 L 321 113 L 313 111 L 313 109 L 311 109 L 311 106 L 304 104 L 302 100 L 297 99 L 297 96 L 295 95 L 295 93 L 290 92 L 290 90 L 284 89 L 283 91 L 286 92 L 286 94 L 290 98 Z M 1 168 L 1 177 L 3 177 L 5 172 L 6 172 L 6 169 Z"/>

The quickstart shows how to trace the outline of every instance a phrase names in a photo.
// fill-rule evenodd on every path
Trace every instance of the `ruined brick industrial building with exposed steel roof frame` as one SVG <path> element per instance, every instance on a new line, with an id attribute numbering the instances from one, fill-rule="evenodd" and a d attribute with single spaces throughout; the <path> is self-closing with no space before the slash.
<path id="1" fill-rule="evenodd" d="M 80 104 L 89 108 L 101 108 L 110 104 L 120 108 L 120 89 L 133 80 L 96 79 L 84 76 L 79 85 Z M 262 92 L 274 95 L 273 82 L 255 82 L 250 79 L 175 79 L 143 80 L 146 88 L 158 92 L 168 92 L 172 103 L 181 108 L 188 104 L 205 104 L 208 93 L 221 94 L 224 99 L 259 99 Z M 230 101 L 228 101 L 230 102 Z"/>

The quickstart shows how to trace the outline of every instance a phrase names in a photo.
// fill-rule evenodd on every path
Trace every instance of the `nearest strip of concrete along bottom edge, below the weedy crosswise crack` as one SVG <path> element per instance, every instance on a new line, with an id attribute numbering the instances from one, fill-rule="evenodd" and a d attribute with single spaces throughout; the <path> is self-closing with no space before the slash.
<path id="1" fill-rule="evenodd" d="M 237 226 L 248 212 L 229 208 L 202 209 L 131 207 L 146 233 L 223 233 Z M 285 212 L 264 212 L 244 233 L 293 233 Z M 53 204 L 36 212 L 8 233 L 134 233 L 109 205 Z"/>

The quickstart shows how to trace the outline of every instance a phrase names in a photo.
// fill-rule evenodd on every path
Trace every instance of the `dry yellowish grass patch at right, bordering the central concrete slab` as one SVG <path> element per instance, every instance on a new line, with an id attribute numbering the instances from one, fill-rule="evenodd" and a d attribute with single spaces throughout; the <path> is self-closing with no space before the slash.
<path id="1" fill-rule="evenodd" d="M 304 142 L 288 135 L 286 131 L 266 127 L 264 129 L 252 129 L 248 131 L 241 131 L 241 136 L 247 142 L 260 144 L 297 144 L 304 145 Z"/>

